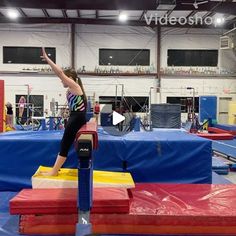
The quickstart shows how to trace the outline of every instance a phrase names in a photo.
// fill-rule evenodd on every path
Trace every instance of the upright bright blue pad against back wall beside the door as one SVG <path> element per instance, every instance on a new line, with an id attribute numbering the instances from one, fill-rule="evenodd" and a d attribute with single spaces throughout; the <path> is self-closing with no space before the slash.
<path id="1" fill-rule="evenodd" d="M 217 97 L 216 96 L 200 96 L 199 97 L 199 120 L 212 119 L 216 120 L 217 115 Z"/>

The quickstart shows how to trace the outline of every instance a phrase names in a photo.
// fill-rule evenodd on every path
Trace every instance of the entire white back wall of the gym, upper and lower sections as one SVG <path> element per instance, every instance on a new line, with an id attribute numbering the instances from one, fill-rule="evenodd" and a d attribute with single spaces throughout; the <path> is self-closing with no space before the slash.
<path id="1" fill-rule="evenodd" d="M 167 66 L 167 49 L 219 49 L 218 30 L 175 29 L 163 28 L 161 35 L 161 67 Z M 145 48 L 151 50 L 151 63 L 156 65 L 156 34 L 145 27 L 127 26 L 92 26 L 78 25 L 76 27 L 76 67 L 85 66 L 87 71 L 94 71 L 98 66 L 99 48 Z M 0 55 L 2 46 L 45 46 L 56 47 L 56 60 L 60 66 L 71 64 L 71 40 L 69 25 L 6 25 L 0 24 Z M 236 68 L 235 58 L 224 60 L 219 53 L 219 66 L 227 64 Z M 224 53 L 223 53 L 224 54 Z M 6 65 L 0 57 L 1 71 L 21 71 L 23 68 L 40 67 L 38 65 Z M 43 66 L 45 67 L 45 66 Z M 122 68 L 132 72 L 134 67 Z M 26 92 L 25 84 L 29 84 L 32 94 L 44 95 L 45 108 L 55 98 L 60 104 L 66 102 L 65 90 L 58 78 L 52 75 L 36 74 L 2 74 L 0 79 L 5 80 L 5 100 L 15 102 L 15 95 Z M 148 96 L 150 87 L 156 87 L 154 77 L 88 77 L 82 76 L 88 96 L 95 93 L 99 96 L 114 96 L 117 84 L 124 84 L 127 96 Z M 17 85 L 17 86 L 16 86 Z M 21 86 L 18 86 L 21 85 Z M 189 96 L 186 87 L 194 87 L 196 96 L 217 95 L 235 98 L 235 77 L 181 77 L 164 76 L 161 79 L 161 93 L 152 92 L 153 102 L 166 102 L 167 96 Z M 120 89 L 121 87 L 119 87 Z M 226 94 L 225 90 L 230 90 Z M 121 93 L 121 90 L 118 91 Z"/>

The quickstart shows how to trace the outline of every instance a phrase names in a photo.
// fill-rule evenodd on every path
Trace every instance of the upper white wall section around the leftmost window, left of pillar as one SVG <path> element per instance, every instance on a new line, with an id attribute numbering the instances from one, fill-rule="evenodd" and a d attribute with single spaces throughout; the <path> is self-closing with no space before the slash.
<path id="1" fill-rule="evenodd" d="M 0 24 L 0 55 L 3 46 L 56 47 L 56 62 L 70 65 L 70 26 L 51 24 Z M 0 56 L 0 71 L 21 71 L 23 68 L 42 68 L 45 65 L 3 64 Z"/>

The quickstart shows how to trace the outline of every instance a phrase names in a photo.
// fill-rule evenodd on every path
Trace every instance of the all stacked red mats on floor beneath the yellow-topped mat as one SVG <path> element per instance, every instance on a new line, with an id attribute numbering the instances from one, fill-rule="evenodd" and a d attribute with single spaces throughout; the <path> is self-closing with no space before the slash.
<path id="1" fill-rule="evenodd" d="M 10 201 L 11 213 L 21 215 L 20 233 L 75 233 L 75 189 L 38 189 L 40 197 L 31 191 L 23 190 Z M 235 185 L 136 184 L 129 191 L 130 199 L 126 190 L 94 190 L 94 233 L 236 235 Z M 105 199 L 110 206 L 102 205 Z"/>

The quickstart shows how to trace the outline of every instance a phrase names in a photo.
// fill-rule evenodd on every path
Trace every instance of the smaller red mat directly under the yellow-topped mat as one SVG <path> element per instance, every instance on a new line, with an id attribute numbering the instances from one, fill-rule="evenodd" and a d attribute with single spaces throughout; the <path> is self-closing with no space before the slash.
<path id="1" fill-rule="evenodd" d="M 77 213 L 76 189 L 24 189 L 10 200 L 10 214 Z M 130 199 L 125 188 L 94 188 L 93 213 L 127 213 Z"/>

